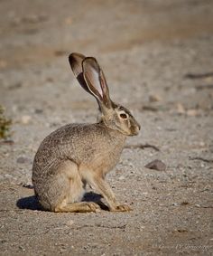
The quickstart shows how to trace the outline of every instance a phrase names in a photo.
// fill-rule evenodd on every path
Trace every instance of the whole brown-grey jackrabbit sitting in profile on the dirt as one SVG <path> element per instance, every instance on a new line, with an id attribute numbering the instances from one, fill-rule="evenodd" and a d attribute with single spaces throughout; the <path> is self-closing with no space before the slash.
<path id="1" fill-rule="evenodd" d="M 35 194 L 48 211 L 97 212 L 98 204 L 81 201 L 88 183 L 106 199 L 109 211 L 130 211 L 116 202 L 105 176 L 116 166 L 125 138 L 137 135 L 140 125 L 128 109 L 110 100 L 95 58 L 71 53 L 69 63 L 82 88 L 96 98 L 101 118 L 95 124 L 66 125 L 42 141 L 32 166 Z"/>

